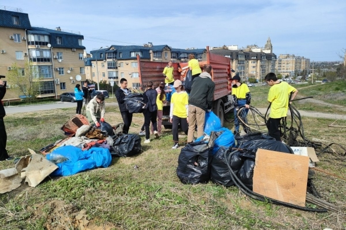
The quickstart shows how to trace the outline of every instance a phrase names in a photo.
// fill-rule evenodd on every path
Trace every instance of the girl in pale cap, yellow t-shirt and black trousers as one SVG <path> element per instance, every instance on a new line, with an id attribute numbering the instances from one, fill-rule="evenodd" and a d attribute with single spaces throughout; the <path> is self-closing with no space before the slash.
<path id="1" fill-rule="evenodd" d="M 172 149 L 179 148 L 178 126 L 180 123 L 181 129 L 188 134 L 188 114 L 189 114 L 189 95 L 184 91 L 184 87 L 180 80 L 175 80 L 173 87 L 175 92 L 171 98 L 170 122 L 172 123 L 172 134 L 174 145 Z"/>

